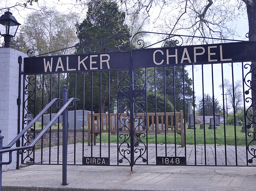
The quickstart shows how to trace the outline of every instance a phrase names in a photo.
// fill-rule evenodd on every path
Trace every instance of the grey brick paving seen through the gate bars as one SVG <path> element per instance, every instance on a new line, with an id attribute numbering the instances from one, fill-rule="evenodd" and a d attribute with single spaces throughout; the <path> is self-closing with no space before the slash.
<path id="1" fill-rule="evenodd" d="M 134 153 L 135 159 L 139 156 L 140 152 L 143 153 L 145 151 L 140 150 L 141 148 L 144 148 L 142 145 L 139 145 L 137 148 L 138 153 Z M 148 159 L 147 162 L 143 162 L 142 158 L 138 158 L 136 160 L 136 164 L 156 164 L 156 146 L 154 144 L 150 144 L 147 148 L 147 151 L 143 154 L 143 157 Z M 124 150 L 122 153 L 125 153 L 125 156 L 130 159 L 127 145 L 121 147 L 120 150 Z M 175 145 L 167 145 L 166 148 L 165 145 L 157 145 L 157 156 L 165 156 L 165 151 L 167 156 L 175 156 Z M 186 148 L 182 148 L 180 145 L 176 146 L 177 157 L 185 157 L 185 153 L 187 165 L 247 165 L 245 146 L 237 146 L 237 148 L 235 148 L 235 146 L 230 145 L 227 145 L 226 147 L 224 145 L 217 145 L 215 148 L 214 145 L 196 145 L 196 150 L 194 145 L 186 145 Z M 68 145 L 68 164 L 82 164 L 83 156 L 90 157 L 91 154 L 93 157 L 109 157 L 110 165 L 118 165 L 118 160 L 122 158 L 122 155 L 118 152 L 117 144 L 102 144 L 101 146 L 97 144 L 96 146 L 92 146 L 92 148 L 85 144 L 83 155 L 83 144 L 77 143 L 76 145 Z M 28 159 L 26 159 L 26 161 L 28 161 Z M 42 161 L 44 164 L 49 164 L 49 148 L 43 148 Z M 41 162 L 41 149 L 35 151 L 35 162 Z M 61 162 L 62 146 L 52 146 L 50 151 L 50 163 L 61 164 Z M 119 163 L 119 165 L 129 165 L 129 162 L 128 160 L 123 159 L 122 164 Z M 249 165 L 255 165 L 255 162 L 254 164 Z"/>

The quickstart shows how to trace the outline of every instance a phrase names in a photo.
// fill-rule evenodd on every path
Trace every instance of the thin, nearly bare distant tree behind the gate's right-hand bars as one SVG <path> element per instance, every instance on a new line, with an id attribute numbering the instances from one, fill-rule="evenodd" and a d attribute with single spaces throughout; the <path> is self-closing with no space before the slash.
<path id="1" fill-rule="evenodd" d="M 234 84 L 232 84 L 228 79 L 224 79 L 223 87 L 225 93 L 228 95 L 228 102 L 230 103 L 230 105 L 232 105 L 234 113 L 237 113 L 238 107 L 243 101 L 241 80 L 237 80 L 234 82 Z M 219 88 L 222 88 L 222 84 L 219 85 Z"/>

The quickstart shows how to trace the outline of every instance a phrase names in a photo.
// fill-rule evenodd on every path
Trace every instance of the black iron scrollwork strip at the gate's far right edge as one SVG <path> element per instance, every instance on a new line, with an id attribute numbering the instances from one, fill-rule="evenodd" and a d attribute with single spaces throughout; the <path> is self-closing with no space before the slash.
<path id="1" fill-rule="evenodd" d="M 245 75 L 244 77 L 244 83 L 248 87 L 248 89 L 245 91 L 246 95 L 249 95 L 250 92 L 252 94 L 251 97 L 246 97 L 245 102 L 251 103 L 251 105 L 246 110 L 246 118 L 248 119 L 248 124 L 246 125 L 246 134 L 247 137 L 252 138 L 250 142 L 247 145 L 248 153 L 251 155 L 251 158 L 248 159 L 249 163 L 253 163 L 253 159 L 256 159 L 256 131 L 254 131 L 254 127 L 256 126 L 256 79 L 251 78 L 251 76 L 256 76 L 256 65 L 255 64 L 245 64 L 245 69 L 250 69 L 250 71 Z M 252 80 L 253 79 L 253 80 Z M 251 130 L 253 128 L 253 130 Z"/>

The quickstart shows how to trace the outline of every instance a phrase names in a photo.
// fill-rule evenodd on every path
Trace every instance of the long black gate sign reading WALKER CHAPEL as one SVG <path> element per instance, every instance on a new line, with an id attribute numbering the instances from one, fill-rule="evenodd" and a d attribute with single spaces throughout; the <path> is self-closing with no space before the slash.
<path id="1" fill-rule="evenodd" d="M 24 58 L 24 74 L 127 70 L 256 60 L 256 42 L 136 49 L 102 54 Z"/>

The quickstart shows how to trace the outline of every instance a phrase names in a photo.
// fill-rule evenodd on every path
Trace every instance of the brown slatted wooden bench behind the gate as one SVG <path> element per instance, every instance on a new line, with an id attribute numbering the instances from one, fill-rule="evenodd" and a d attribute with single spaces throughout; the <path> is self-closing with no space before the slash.
<path id="1" fill-rule="evenodd" d="M 130 123 L 127 123 L 129 119 L 127 118 L 127 114 L 122 113 L 119 114 L 121 121 L 118 120 L 117 113 L 110 113 L 110 118 L 108 113 L 93 113 L 91 116 L 91 112 L 87 113 L 88 119 L 88 145 L 91 145 L 91 132 L 93 134 L 93 143 L 96 145 L 96 137 L 101 133 L 129 133 L 128 128 L 130 128 Z M 146 130 L 142 129 L 142 126 L 145 126 L 145 116 L 144 113 L 138 113 L 137 116 L 140 118 L 140 121 L 134 122 L 134 128 L 136 128 L 135 132 L 144 132 L 146 134 Z M 156 117 L 157 116 L 157 117 Z M 134 116 L 135 117 L 135 116 Z M 165 117 L 165 120 L 164 120 Z M 91 119 L 93 119 L 94 123 L 91 124 Z M 126 119 L 126 120 L 122 120 Z M 110 121 L 110 123 L 109 123 Z M 147 113 L 147 133 L 155 134 L 157 133 L 165 133 L 165 123 L 167 121 L 166 133 L 178 133 L 181 136 L 181 147 L 184 147 L 184 127 L 183 127 L 183 111 L 175 112 L 175 120 L 174 113 Z M 138 125 L 138 122 L 143 122 L 141 125 Z M 154 124 L 156 122 L 156 124 Z M 119 123 L 119 126 L 117 126 Z M 126 123 L 126 128 L 123 124 Z M 174 125 L 175 123 L 175 125 Z M 109 128 L 110 124 L 110 128 Z M 176 129 L 175 129 L 176 127 Z M 118 128 L 122 128 L 122 131 L 118 131 Z M 110 129 L 110 130 L 109 130 Z"/>

